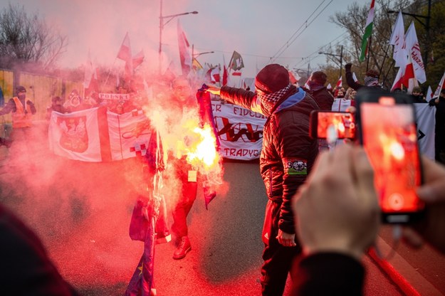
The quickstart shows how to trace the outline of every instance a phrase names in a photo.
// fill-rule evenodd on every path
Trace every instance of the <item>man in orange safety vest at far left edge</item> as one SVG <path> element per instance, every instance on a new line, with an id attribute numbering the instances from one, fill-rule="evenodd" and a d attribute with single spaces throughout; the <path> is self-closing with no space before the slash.
<path id="1" fill-rule="evenodd" d="M 12 146 L 9 154 L 10 158 L 20 157 L 26 154 L 26 147 L 28 147 L 28 138 L 30 136 L 30 129 L 32 126 L 32 115 L 36 114 L 36 107 L 31 100 L 26 100 L 26 88 L 19 85 L 16 87 L 16 96 L 11 98 L 3 109 L 0 110 L 0 115 L 6 115 L 12 112 L 12 132 L 11 140 Z M 17 144 L 16 142 L 21 142 Z"/>

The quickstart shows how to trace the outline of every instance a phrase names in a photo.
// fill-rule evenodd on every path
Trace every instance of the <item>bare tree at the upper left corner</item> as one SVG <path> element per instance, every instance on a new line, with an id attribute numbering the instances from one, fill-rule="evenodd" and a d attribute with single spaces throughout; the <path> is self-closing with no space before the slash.
<path id="1" fill-rule="evenodd" d="M 23 6 L 9 4 L 0 14 L 0 66 L 34 63 L 43 69 L 56 65 L 66 51 L 68 38 L 56 33 L 38 14 L 28 15 Z"/>

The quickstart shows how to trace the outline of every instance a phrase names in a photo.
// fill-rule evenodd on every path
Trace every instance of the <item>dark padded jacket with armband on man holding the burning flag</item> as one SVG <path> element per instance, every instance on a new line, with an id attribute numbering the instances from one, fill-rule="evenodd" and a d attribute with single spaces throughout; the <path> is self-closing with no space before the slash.
<path id="1" fill-rule="evenodd" d="M 295 97 L 303 99 L 292 105 Z M 258 112 L 257 96 L 250 91 L 223 86 L 221 98 Z M 311 95 L 295 87 L 277 104 L 264 125 L 260 171 L 268 198 L 281 203 L 278 227 L 295 233 L 291 200 L 318 154 L 317 140 L 309 137 L 309 115 L 319 108 Z"/>

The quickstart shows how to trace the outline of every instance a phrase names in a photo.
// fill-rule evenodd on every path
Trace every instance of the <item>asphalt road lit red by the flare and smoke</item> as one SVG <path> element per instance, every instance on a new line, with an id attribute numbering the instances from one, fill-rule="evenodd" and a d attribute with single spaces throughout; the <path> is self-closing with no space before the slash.
<path id="1" fill-rule="evenodd" d="M 143 243 L 128 236 L 140 181 L 135 166 L 58 157 L 14 171 L 6 164 L 0 201 L 38 233 L 62 275 L 83 295 L 123 295 L 143 251 Z M 192 251 L 186 258 L 172 259 L 172 243 L 156 246 L 157 295 L 260 295 L 266 195 L 258 163 L 225 162 L 224 180 L 226 189 L 209 210 L 199 188 L 189 215 Z M 429 253 L 422 255 L 429 259 Z M 424 260 L 419 265 L 434 264 Z M 365 295 L 404 295 L 372 259 L 365 257 L 364 264 Z M 439 290 L 441 276 L 428 278 Z"/>

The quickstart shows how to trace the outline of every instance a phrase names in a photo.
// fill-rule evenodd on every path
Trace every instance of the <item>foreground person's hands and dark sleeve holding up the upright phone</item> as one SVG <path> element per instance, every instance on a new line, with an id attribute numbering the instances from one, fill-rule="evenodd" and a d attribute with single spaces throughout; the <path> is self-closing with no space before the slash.
<path id="1" fill-rule="evenodd" d="M 424 184 L 417 194 L 431 211 L 422 228 L 404 228 L 404 241 L 414 247 L 426 241 L 445 255 L 445 166 L 422 157 L 422 168 Z M 360 146 L 347 143 L 320 154 L 293 199 L 303 258 L 293 265 L 292 295 L 362 295 L 361 258 L 377 238 L 380 224 L 373 179 Z"/>

